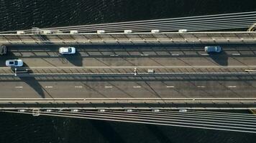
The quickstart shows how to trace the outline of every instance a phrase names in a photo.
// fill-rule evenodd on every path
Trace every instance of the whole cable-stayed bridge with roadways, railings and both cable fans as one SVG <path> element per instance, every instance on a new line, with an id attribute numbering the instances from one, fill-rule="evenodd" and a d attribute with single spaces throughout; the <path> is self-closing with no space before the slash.
<path id="1" fill-rule="evenodd" d="M 256 109 L 255 21 L 250 11 L 2 31 L 0 109 L 255 133 L 252 115 L 187 110 Z"/>

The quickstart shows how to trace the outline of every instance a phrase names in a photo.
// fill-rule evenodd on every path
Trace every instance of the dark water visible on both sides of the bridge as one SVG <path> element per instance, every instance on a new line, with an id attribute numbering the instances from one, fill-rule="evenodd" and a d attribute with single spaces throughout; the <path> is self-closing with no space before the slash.
<path id="1" fill-rule="evenodd" d="M 0 31 L 255 10 L 255 0 L 0 0 Z M 242 143 L 256 142 L 256 135 L 0 113 L 0 143 L 6 142 Z"/>

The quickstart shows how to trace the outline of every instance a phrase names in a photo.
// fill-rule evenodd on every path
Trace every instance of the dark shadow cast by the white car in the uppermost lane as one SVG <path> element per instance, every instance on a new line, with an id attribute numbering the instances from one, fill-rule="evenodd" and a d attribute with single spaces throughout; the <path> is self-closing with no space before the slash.
<path id="1" fill-rule="evenodd" d="M 83 66 L 83 57 L 78 51 L 76 51 L 76 54 L 63 54 L 63 57 L 74 66 Z"/>

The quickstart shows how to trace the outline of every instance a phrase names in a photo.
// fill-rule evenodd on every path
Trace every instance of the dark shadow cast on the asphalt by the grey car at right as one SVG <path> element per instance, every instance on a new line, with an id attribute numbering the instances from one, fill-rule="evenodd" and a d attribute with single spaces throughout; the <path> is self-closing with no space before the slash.
<path id="1" fill-rule="evenodd" d="M 221 53 L 209 53 L 209 56 L 220 66 L 228 65 L 228 55 L 226 51 L 221 51 Z"/>

